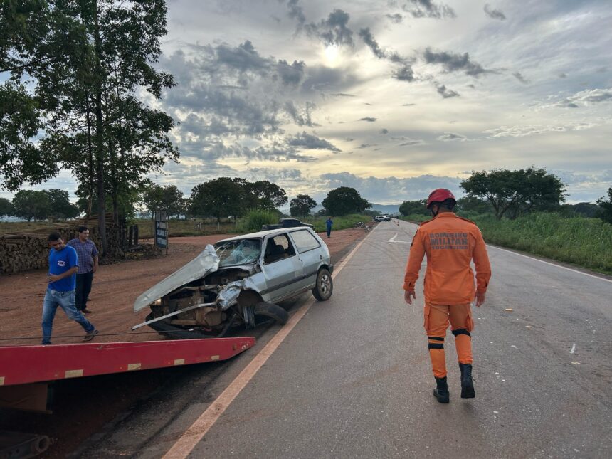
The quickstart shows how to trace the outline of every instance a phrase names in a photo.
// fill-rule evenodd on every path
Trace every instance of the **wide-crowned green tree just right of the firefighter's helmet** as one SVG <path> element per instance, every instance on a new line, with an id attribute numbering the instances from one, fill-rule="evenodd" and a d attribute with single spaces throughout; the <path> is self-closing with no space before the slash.
<path id="1" fill-rule="evenodd" d="M 516 218 L 532 211 L 559 209 L 565 201 L 564 184 L 546 169 L 493 169 L 473 172 L 461 182 L 468 196 L 486 199 L 493 206 L 495 217 Z"/>

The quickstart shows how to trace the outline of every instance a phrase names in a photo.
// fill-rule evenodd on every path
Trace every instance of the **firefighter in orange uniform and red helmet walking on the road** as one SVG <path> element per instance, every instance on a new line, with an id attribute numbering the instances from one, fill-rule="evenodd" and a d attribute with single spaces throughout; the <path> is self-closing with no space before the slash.
<path id="1" fill-rule="evenodd" d="M 421 223 L 410 246 L 403 290 L 408 305 L 416 298 L 414 287 L 427 254 L 425 274 L 425 329 L 429 340 L 429 357 L 436 389 L 433 395 L 440 403 L 450 400 L 446 381 L 444 339 L 448 323 L 455 335 L 455 347 L 461 371 L 461 398 L 475 397 L 472 381 L 472 338 L 474 327 L 470 302 L 476 307 L 485 302 L 491 277 L 491 266 L 485 241 L 473 221 L 453 213 L 455 196 L 448 189 L 436 189 L 427 199 L 433 218 Z M 476 285 L 470 262 L 474 260 Z"/>

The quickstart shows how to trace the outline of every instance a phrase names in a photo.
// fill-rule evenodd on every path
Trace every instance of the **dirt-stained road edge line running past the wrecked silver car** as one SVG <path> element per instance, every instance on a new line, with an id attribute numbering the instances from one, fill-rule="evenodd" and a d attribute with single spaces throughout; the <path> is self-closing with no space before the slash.
<path id="1" fill-rule="evenodd" d="M 367 235 L 359 244 L 357 244 L 352 252 L 349 253 L 347 258 L 344 258 L 342 265 L 339 265 L 338 269 L 334 270 L 332 279 L 336 278 L 344 266 L 347 265 L 349 260 L 353 258 L 353 255 L 357 253 L 357 250 L 359 250 L 362 244 L 366 241 L 366 238 Z M 227 386 L 227 388 L 221 392 L 221 395 L 219 395 L 217 399 L 213 401 L 208 408 L 206 408 L 204 413 L 202 413 L 200 417 L 197 418 L 193 424 L 191 424 L 191 426 L 183 433 L 181 438 L 179 438 L 179 440 L 172 445 L 172 448 L 170 448 L 168 452 L 164 454 L 164 459 L 184 459 L 191 453 L 199 441 L 204 438 L 206 433 L 211 429 L 214 423 L 216 423 L 217 419 L 221 417 L 228 406 L 230 406 L 231 402 L 236 399 L 236 396 L 238 396 L 238 394 L 240 394 L 246 387 L 248 382 L 253 379 L 253 376 L 255 376 L 263 364 L 268 361 L 268 358 L 275 352 L 278 346 L 280 346 L 280 343 L 282 343 L 285 337 L 287 337 L 287 334 L 289 334 L 295 325 L 297 325 L 297 322 L 300 322 L 302 317 L 306 315 L 306 312 L 310 310 L 310 307 L 314 303 L 315 299 L 312 298 L 291 316 L 289 322 L 287 322 L 283 328 L 276 332 L 268 344 L 266 344 L 265 347 L 263 347 L 263 349 L 261 349 L 260 352 L 255 355 L 255 357 L 253 357 L 253 360 L 250 361 L 245 369 L 243 369 L 243 371 L 236 376 L 236 379 L 234 379 L 229 386 Z"/>

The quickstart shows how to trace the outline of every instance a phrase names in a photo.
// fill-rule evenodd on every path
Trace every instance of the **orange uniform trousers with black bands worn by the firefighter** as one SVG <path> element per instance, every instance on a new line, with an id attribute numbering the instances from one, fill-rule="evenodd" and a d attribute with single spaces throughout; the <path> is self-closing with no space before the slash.
<path id="1" fill-rule="evenodd" d="M 460 364 L 472 363 L 472 335 L 474 328 L 470 303 L 465 305 L 433 305 L 425 303 L 425 331 L 429 340 L 429 357 L 433 376 L 446 376 L 444 339 L 450 322 L 455 335 L 455 347 Z"/>

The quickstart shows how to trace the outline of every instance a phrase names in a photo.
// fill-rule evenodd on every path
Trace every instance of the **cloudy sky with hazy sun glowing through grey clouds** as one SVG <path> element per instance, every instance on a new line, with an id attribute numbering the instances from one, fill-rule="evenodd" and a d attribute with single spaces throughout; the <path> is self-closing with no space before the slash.
<path id="1" fill-rule="evenodd" d="M 609 0 L 171 0 L 159 66 L 178 84 L 159 105 L 181 161 L 154 181 L 396 204 L 533 164 L 595 201 L 612 184 L 611 23 Z"/>

